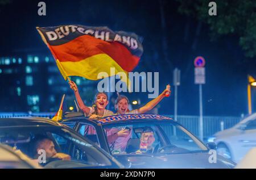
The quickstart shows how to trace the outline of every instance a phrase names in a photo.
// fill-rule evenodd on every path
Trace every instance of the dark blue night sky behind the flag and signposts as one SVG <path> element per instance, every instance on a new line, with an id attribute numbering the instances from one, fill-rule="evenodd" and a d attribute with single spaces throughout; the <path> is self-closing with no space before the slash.
<path id="1" fill-rule="evenodd" d="M 159 1 L 44 1 L 46 16 L 37 14 L 38 2 L 16 0 L 0 6 L 0 57 L 15 56 L 20 51 L 49 53 L 36 26 L 82 24 L 135 32 L 144 39 L 144 53 L 134 71 L 159 72 L 162 91 L 167 83 L 172 85 L 172 70 L 176 67 L 181 70 L 178 114 L 199 115 L 199 88 L 194 84 L 193 74 L 196 56 L 206 60 L 204 115 L 247 114 L 247 74 L 255 77 L 255 58 L 245 58 L 237 36 L 210 41 L 207 24 L 179 14 L 176 1 L 164 1 L 165 28 L 161 26 Z M 163 49 L 163 38 L 167 49 Z M 168 62 L 164 60 L 164 52 Z M 5 81 L 1 79 L 1 88 Z M 255 88 L 251 94 L 255 111 Z M 148 101 L 146 93 L 133 95 Z M 160 103 L 159 112 L 174 113 L 174 93 Z"/>

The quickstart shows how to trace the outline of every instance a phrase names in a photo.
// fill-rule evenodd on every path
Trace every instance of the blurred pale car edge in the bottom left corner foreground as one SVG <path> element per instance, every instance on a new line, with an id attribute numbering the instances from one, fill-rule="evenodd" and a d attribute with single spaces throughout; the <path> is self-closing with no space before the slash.
<path id="1" fill-rule="evenodd" d="M 38 164 L 10 146 L 0 144 L 0 169 L 38 169 Z"/>

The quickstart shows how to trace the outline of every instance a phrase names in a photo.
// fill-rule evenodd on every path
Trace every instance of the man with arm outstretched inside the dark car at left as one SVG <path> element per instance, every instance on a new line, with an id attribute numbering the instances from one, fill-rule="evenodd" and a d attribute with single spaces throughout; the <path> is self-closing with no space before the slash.
<path id="1" fill-rule="evenodd" d="M 59 158 L 60 160 L 71 160 L 71 157 L 68 154 L 57 153 L 53 141 L 47 136 L 37 136 L 32 140 L 32 151 L 34 158 L 40 156 L 39 150 L 45 150 L 46 152 L 46 161 L 49 161 L 51 158 Z"/>

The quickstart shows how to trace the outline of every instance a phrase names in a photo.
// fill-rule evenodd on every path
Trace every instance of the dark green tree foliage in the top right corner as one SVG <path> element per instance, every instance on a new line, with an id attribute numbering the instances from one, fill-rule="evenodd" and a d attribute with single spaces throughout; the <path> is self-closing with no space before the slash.
<path id="1" fill-rule="evenodd" d="M 205 0 L 176 0 L 178 11 L 209 25 L 212 40 L 224 35 L 236 35 L 246 57 L 256 56 L 256 1 L 216 0 L 217 16 L 210 16 Z"/>

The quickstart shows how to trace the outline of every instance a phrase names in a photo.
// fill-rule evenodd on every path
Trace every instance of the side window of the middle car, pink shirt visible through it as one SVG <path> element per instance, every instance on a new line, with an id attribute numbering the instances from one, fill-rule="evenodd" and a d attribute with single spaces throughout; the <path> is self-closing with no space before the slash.
<path id="1" fill-rule="evenodd" d="M 96 129 L 92 125 L 81 124 L 79 133 L 87 139 L 91 140 L 94 144 L 100 145 Z"/>

